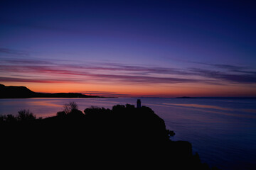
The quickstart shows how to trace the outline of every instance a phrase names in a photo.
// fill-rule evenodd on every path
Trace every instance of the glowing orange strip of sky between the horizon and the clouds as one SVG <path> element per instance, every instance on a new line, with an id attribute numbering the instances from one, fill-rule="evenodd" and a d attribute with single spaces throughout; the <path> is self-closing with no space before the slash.
<path id="1" fill-rule="evenodd" d="M 6 86 L 26 86 L 42 93 L 81 93 L 92 96 L 119 97 L 203 97 L 256 96 L 255 86 L 218 86 L 209 84 L 134 85 L 134 84 L 38 84 L 5 83 Z"/>

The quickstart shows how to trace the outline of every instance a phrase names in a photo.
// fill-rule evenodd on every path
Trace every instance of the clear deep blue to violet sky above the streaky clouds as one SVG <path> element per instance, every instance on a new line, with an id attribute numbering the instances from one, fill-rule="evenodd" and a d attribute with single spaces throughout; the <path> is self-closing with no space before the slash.
<path id="1" fill-rule="evenodd" d="M 255 8 L 255 1 L 1 1 L 0 59 L 169 68 L 195 79 L 215 72 L 217 84 L 252 87 Z"/>

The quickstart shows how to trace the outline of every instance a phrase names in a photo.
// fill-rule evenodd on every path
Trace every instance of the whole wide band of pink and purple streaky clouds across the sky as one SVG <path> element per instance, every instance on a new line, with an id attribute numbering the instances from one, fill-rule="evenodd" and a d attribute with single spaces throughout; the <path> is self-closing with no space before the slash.
<path id="1" fill-rule="evenodd" d="M 0 65 L 3 77 L 14 73 L 33 75 L 31 79 L 16 76 L 16 81 L 37 82 L 84 82 L 119 84 L 255 84 L 256 72 L 247 71 L 244 67 L 228 64 L 208 64 L 209 69 L 190 68 L 177 69 L 169 67 L 149 67 L 145 65 L 129 65 L 122 63 L 90 63 L 60 64 L 63 62 L 33 60 L 33 59 L 6 59 Z M 223 70 L 224 69 L 224 70 Z M 37 75 L 38 78 L 33 79 Z M 39 77 L 43 77 L 42 80 Z M 45 79 L 50 77 L 51 79 Z M 15 81 L 11 79 L 1 81 Z"/>

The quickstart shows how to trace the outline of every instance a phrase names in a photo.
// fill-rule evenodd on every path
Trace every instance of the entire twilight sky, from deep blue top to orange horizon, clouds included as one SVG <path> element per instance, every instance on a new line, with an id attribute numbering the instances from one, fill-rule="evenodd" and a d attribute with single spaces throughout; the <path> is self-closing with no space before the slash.
<path id="1" fill-rule="evenodd" d="M 0 1 L 0 84 L 256 96 L 255 1 Z"/>

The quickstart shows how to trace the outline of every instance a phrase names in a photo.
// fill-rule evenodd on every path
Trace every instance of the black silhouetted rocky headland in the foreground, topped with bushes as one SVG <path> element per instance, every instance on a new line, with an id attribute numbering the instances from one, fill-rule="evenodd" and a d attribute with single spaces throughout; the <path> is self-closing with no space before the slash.
<path id="1" fill-rule="evenodd" d="M 23 110 L 17 116 L 1 116 L 0 129 L 1 154 L 11 160 L 38 165 L 58 160 L 59 168 L 73 164 L 104 169 L 210 169 L 192 153 L 190 142 L 172 141 L 175 133 L 146 106 L 91 107 L 82 112 L 68 103 L 49 118 L 36 118 Z"/>

